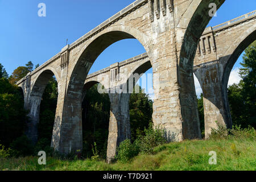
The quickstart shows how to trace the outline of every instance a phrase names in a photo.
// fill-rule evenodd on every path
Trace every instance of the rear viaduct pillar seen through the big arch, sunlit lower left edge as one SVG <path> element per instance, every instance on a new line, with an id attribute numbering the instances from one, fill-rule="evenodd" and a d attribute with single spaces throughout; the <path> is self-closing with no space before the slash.
<path id="1" fill-rule="evenodd" d="M 107 160 L 111 162 L 117 147 L 125 140 L 131 138 L 130 114 L 129 114 L 129 93 L 110 93 L 110 119 Z"/>

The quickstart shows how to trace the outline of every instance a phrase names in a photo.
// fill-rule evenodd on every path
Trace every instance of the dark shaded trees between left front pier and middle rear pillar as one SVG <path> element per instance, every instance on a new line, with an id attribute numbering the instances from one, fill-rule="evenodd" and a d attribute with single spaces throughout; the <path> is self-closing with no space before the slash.
<path id="1" fill-rule="evenodd" d="M 98 93 L 97 87 L 98 84 L 86 90 L 86 96 L 82 102 L 82 157 L 95 156 L 92 146 L 97 143 L 97 155 L 105 159 L 109 134 L 110 100 L 108 94 Z"/>

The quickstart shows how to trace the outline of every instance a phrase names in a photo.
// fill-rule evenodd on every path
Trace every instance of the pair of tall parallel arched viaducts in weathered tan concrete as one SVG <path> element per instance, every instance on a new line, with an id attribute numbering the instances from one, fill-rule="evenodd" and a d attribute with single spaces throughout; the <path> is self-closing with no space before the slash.
<path id="1" fill-rule="evenodd" d="M 232 127 L 228 79 L 238 57 L 256 38 L 256 11 L 205 28 L 212 18 L 209 4 L 216 3 L 218 9 L 224 2 L 138 0 L 65 46 L 16 83 L 23 90 L 25 109 L 30 110 L 28 137 L 37 140 L 40 101 L 54 75 L 59 96 L 51 146 L 63 154 L 81 152 L 82 99 L 86 89 L 100 82 L 109 90 L 111 102 L 107 151 L 111 160 L 118 144 L 130 137 L 130 94 L 116 92 L 116 88 L 126 90 L 127 78 L 151 67 L 157 95 L 152 121 L 166 130 L 170 141 L 201 138 L 193 73 L 203 89 L 205 136 L 216 129 L 215 121 Z M 122 39 L 137 39 L 146 53 L 88 75 L 101 52 Z"/>

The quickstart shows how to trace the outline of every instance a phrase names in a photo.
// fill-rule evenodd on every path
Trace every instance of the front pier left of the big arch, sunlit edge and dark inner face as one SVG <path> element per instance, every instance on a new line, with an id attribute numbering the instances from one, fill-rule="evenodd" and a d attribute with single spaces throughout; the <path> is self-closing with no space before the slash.
<path id="1" fill-rule="evenodd" d="M 61 69 L 59 96 L 53 126 L 51 147 L 61 154 L 82 152 L 82 88 L 71 86 L 67 92 L 68 67 Z M 72 85 L 73 82 L 70 83 Z M 84 83 L 76 82 L 78 85 Z"/>

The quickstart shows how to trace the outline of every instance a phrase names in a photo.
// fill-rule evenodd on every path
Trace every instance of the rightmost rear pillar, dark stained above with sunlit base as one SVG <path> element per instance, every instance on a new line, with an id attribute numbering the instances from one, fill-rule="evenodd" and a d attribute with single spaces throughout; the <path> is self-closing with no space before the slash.
<path id="1" fill-rule="evenodd" d="M 204 96 L 205 138 L 209 138 L 211 130 L 217 129 L 218 125 L 232 127 L 231 117 L 228 117 L 229 109 L 225 108 L 227 98 L 225 100 L 225 96 L 222 94 L 222 74 L 221 66 L 218 63 L 195 71 Z"/>

